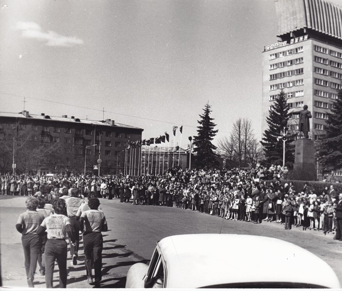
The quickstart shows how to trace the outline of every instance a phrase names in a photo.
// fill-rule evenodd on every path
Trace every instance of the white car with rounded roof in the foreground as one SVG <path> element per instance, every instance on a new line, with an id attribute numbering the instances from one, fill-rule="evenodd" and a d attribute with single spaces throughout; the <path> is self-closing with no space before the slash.
<path id="1" fill-rule="evenodd" d="M 149 265 L 136 263 L 126 288 L 341 288 L 332 268 L 275 238 L 185 234 L 157 242 Z"/>

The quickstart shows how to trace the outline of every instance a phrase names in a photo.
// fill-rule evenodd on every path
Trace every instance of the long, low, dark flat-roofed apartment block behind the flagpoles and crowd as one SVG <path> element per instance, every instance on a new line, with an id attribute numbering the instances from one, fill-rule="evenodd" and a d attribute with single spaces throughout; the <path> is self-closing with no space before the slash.
<path id="1" fill-rule="evenodd" d="M 120 173 L 125 144 L 143 130 L 111 119 L 0 112 L 0 173 L 12 172 L 14 161 L 18 174 L 98 174 L 98 159 L 101 175 Z"/>

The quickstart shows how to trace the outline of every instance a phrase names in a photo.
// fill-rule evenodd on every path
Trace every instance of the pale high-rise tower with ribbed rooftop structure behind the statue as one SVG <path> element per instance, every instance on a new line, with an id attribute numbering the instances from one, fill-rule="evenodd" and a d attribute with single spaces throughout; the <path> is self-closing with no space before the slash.
<path id="1" fill-rule="evenodd" d="M 275 0 L 278 42 L 265 46 L 262 81 L 262 133 L 281 90 L 289 107 L 309 106 L 312 140 L 324 127 L 342 84 L 342 8 L 325 0 Z M 289 121 L 298 129 L 298 115 Z"/>

